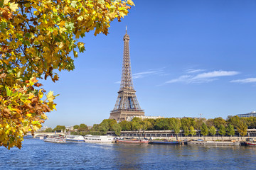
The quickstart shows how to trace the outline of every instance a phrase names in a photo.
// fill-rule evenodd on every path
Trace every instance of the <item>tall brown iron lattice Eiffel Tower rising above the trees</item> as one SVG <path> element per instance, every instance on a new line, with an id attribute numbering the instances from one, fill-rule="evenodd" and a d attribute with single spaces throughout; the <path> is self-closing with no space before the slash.
<path id="1" fill-rule="evenodd" d="M 110 119 L 127 120 L 129 116 L 144 115 L 144 111 L 140 108 L 137 100 L 134 86 L 132 83 L 132 70 L 129 57 L 129 35 L 124 35 L 124 56 L 122 64 L 122 81 L 118 91 L 117 102 L 114 105 L 113 111 L 110 113 Z"/>

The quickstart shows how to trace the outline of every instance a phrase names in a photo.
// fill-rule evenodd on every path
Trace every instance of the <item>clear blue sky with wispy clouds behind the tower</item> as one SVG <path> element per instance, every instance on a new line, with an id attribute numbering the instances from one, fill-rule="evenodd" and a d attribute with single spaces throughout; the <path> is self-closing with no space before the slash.
<path id="1" fill-rule="evenodd" d="M 134 0 L 110 34 L 88 33 L 73 72 L 43 88 L 60 94 L 44 125 L 109 118 L 122 74 L 127 26 L 134 89 L 145 115 L 227 118 L 255 111 L 256 1 Z"/>

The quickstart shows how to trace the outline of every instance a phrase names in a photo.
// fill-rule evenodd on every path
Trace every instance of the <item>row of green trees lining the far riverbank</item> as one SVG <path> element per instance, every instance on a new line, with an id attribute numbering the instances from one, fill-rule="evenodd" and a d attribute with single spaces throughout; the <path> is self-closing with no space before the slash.
<path id="1" fill-rule="evenodd" d="M 144 119 L 134 118 L 132 121 L 122 121 L 117 123 L 116 120 L 105 119 L 100 124 L 95 124 L 89 130 L 87 125 L 80 124 L 73 127 L 77 132 L 74 135 L 87 134 L 107 134 L 107 131 L 114 131 L 116 135 L 120 135 L 121 131 L 134 130 L 174 130 L 175 134 L 183 131 L 183 134 L 196 135 L 196 130 L 200 130 L 201 135 L 214 136 L 217 132 L 220 135 L 235 135 L 235 129 L 238 130 L 241 136 L 247 134 L 247 128 L 256 128 L 256 118 L 239 118 L 238 116 L 228 116 L 225 120 L 221 117 L 206 119 L 206 118 L 158 118 Z M 65 130 L 65 126 L 57 125 L 56 128 L 48 128 L 45 132 L 55 132 Z"/>

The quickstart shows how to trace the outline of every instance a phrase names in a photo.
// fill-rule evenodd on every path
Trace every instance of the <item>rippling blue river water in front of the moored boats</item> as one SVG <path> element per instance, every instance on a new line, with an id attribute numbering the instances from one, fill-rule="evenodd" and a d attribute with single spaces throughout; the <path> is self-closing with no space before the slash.
<path id="1" fill-rule="evenodd" d="M 0 169 L 256 169 L 256 147 L 124 145 L 25 139 L 0 147 Z"/>

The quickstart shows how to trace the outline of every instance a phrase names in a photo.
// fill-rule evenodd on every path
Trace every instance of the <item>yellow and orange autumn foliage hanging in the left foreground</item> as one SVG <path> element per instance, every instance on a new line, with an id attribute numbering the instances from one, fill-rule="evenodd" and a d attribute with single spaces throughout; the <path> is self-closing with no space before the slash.
<path id="1" fill-rule="evenodd" d="M 39 79 L 59 79 L 84 52 L 85 33 L 107 35 L 127 15 L 131 0 L 0 0 L 0 146 L 21 148 L 23 135 L 41 128 L 56 104 Z M 46 96 L 43 98 L 43 94 Z"/>

